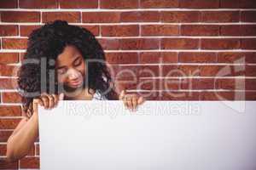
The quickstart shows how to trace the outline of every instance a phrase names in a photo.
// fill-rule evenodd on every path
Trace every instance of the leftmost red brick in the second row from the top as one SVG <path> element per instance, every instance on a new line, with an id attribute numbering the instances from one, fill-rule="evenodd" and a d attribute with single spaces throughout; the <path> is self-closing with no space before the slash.
<path id="1" fill-rule="evenodd" d="M 39 22 L 40 13 L 32 11 L 2 11 L 2 22 Z"/>

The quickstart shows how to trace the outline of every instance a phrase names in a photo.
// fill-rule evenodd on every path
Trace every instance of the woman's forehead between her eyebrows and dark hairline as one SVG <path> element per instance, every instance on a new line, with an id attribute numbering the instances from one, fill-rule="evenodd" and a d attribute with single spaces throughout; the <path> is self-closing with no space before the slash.
<path id="1" fill-rule="evenodd" d="M 56 65 L 68 64 L 79 55 L 81 55 L 81 53 L 78 48 L 76 48 L 75 46 L 68 45 L 64 48 L 63 52 L 58 55 L 56 59 Z"/>

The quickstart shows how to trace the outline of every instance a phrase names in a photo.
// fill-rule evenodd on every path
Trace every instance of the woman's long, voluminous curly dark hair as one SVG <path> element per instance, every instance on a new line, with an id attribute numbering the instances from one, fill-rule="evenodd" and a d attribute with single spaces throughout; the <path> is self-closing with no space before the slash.
<path id="1" fill-rule="evenodd" d="M 22 96 L 23 111 L 26 113 L 32 114 L 32 99 L 37 98 L 43 92 L 56 94 L 58 91 L 56 90 L 58 88 L 56 78 L 49 76 L 49 71 L 55 69 L 49 61 L 55 60 L 67 45 L 78 48 L 85 62 L 86 59 L 105 61 L 102 46 L 96 37 L 84 27 L 68 25 L 65 20 L 55 20 L 33 30 L 29 35 L 24 60 L 18 71 L 18 88 Z M 41 78 L 42 59 L 46 60 L 44 80 Z M 27 62 L 28 60 L 33 60 L 33 62 Z M 113 80 L 106 63 L 89 62 L 86 65 L 88 67 L 86 72 L 88 88 L 99 91 L 107 99 L 118 99 L 113 90 Z M 49 87 L 53 79 L 55 79 L 55 92 L 52 92 Z M 44 81 L 45 88 L 42 87 L 42 81 Z M 107 90 L 108 93 L 106 93 Z"/>

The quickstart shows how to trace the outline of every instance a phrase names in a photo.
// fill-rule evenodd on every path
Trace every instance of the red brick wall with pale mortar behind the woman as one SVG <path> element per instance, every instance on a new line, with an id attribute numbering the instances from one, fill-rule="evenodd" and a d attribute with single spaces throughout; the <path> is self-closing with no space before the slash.
<path id="1" fill-rule="evenodd" d="M 92 31 L 113 66 L 118 88 L 147 99 L 256 99 L 255 0 L 69 2 L 0 1 L 0 168 L 39 167 L 38 142 L 19 162 L 9 164 L 4 156 L 20 121 L 15 72 L 27 36 L 50 20 Z"/>

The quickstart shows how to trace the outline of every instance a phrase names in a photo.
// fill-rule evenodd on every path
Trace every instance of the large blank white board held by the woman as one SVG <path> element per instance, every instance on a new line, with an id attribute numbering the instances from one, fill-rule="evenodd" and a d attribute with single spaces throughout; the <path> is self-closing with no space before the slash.
<path id="1" fill-rule="evenodd" d="M 41 169 L 255 170 L 256 101 L 39 107 Z"/>

